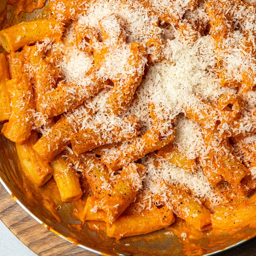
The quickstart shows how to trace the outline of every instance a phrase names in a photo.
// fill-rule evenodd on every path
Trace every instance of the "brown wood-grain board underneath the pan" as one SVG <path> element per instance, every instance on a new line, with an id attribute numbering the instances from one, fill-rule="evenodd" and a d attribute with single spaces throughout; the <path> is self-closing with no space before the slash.
<path id="1" fill-rule="evenodd" d="M 96 256 L 47 230 L 8 194 L 0 183 L 0 219 L 17 236 L 39 256 Z M 0 253 L 1 255 L 1 253 Z M 256 256 L 256 237 L 218 256 Z"/>

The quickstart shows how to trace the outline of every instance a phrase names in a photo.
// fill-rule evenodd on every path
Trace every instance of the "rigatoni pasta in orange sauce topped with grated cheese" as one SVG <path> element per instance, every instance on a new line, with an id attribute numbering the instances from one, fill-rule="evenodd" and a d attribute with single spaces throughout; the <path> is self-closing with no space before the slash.
<path id="1" fill-rule="evenodd" d="M 0 31 L 1 133 L 24 175 L 116 239 L 256 222 L 256 7 L 49 6 Z"/>

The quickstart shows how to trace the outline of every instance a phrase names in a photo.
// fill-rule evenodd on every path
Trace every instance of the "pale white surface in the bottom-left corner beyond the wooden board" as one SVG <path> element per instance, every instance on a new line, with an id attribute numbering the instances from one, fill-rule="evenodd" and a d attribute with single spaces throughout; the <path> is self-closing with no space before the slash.
<path id="1" fill-rule="evenodd" d="M 0 220 L 0 255 L 1 256 L 36 256 L 6 228 Z"/>

